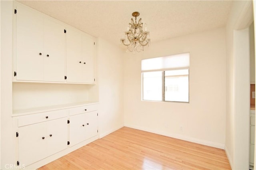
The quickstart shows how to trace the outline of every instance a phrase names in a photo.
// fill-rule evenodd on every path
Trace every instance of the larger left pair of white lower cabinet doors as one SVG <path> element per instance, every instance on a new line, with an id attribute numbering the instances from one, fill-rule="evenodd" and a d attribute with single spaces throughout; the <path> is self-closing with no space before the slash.
<path id="1" fill-rule="evenodd" d="M 67 148 L 67 118 L 18 128 L 19 162 L 30 165 Z"/>

